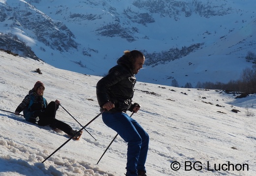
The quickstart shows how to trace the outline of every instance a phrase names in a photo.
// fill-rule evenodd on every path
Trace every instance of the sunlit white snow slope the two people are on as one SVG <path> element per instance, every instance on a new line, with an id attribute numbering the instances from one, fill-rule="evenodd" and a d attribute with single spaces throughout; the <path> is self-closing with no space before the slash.
<path id="1" fill-rule="evenodd" d="M 42 75 L 34 72 L 37 68 Z M 14 112 L 40 80 L 47 101 L 60 100 L 84 126 L 99 113 L 100 78 L 0 51 L 0 109 Z M 147 175 L 255 176 L 256 95 L 235 99 L 237 95 L 137 82 L 133 101 L 142 108 L 133 118 L 150 135 Z M 56 118 L 81 128 L 62 107 Z M 101 116 L 86 129 L 96 140 L 84 131 L 79 141 L 70 140 L 41 163 L 69 137 L 0 110 L 0 176 L 124 176 L 126 142 L 118 136 L 96 164 L 116 132 L 104 125 Z M 171 169 L 173 162 L 180 163 L 178 171 Z"/>

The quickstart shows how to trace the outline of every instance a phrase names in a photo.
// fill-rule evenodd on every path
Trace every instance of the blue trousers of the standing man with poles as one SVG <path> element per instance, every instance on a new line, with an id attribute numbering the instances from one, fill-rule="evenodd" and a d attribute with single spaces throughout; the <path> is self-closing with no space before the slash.
<path id="1" fill-rule="evenodd" d="M 104 112 L 102 120 L 128 143 L 126 175 L 138 176 L 138 170 L 146 172 L 148 133 L 124 112 Z"/>

